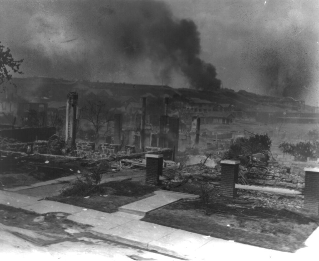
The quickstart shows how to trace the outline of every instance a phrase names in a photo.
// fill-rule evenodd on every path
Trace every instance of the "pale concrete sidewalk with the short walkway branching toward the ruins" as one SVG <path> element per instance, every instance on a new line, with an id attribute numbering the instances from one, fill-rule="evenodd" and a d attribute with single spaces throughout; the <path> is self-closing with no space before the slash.
<path id="1" fill-rule="evenodd" d="M 162 204 L 169 204 L 168 201 L 176 201 L 181 198 L 190 198 L 196 195 L 172 193 L 169 191 L 157 191 L 155 196 L 149 197 L 154 201 L 151 205 L 157 208 Z M 39 214 L 48 212 L 70 213 L 69 220 L 88 224 L 93 226 L 88 230 L 95 235 L 99 235 L 108 240 L 125 243 L 132 246 L 141 247 L 147 250 L 154 250 L 175 257 L 191 260 L 211 260 L 213 257 L 245 259 L 245 260 L 277 260 L 283 258 L 305 257 L 309 258 L 316 250 L 316 242 L 319 239 L 319 230 L 309 238 L 308 246 L 305 249 L 297 251 L 296 254 L 268 250 L 251 245 L 245 245 L 233 241 L 227 241 L 201 234 L 191 233 L 180 229 L 160 226 L 157 224 L 141 221 L 143 212 L 146 213 L 145 201 L 135 202 L 137 213 L 127 213 L 118 211 L 115 213 L 104 213 L 96 210 L 85 209 L 73 205 L 63 204 L 50 200 L 41 200 L 39 198 L 20 195 L 14 192 L 0 190 L 0 204 L 11 205 L 34 211 Z M 130 206 L 129 206 L 130 205 Z M 132 208 L 132 205 L 127 206 Z M 147 205 L 147 204 L 146 204 Z M 127 208 L 124 206 L 124 209 Z M 122 207 L 123 208 L 123 207 Z M 143 210 L 143 211 L 142 211 Z M 310 259 L 312 260 L 312 259 Z"/>

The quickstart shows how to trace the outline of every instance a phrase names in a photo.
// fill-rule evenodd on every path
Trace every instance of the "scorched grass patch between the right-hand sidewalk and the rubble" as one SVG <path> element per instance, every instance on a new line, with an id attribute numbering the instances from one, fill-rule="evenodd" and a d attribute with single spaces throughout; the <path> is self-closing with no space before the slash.
<path id="1" fill-rule="evenodd" d="M 286 210 L 243 209 L 222 203 L 182 201 L 147 213 L 143 221 L 234 240 L 267 249 L 293 252 L 318 226 Z"/>

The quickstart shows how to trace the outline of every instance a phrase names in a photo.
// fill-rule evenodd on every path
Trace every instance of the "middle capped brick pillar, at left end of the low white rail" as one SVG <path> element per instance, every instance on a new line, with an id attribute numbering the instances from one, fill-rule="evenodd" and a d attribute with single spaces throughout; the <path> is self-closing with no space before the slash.
<path id="1" fill-rule="evenodd" d="M 235 183 L 238 180 L 239 160 L 222 160 L 220 193 L 229 198 L 237 196 Z"/>

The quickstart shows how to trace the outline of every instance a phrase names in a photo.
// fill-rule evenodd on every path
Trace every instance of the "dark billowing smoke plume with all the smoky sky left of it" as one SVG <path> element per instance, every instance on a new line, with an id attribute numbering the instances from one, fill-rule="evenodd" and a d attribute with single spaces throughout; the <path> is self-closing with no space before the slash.
<path id="1" fill-rule="evenodd" d="M 4 1 L 0 12 L 1 40 L 26 74 L 157 84 L 180 74 L 197 89 L 220 87 L 199 58 L 197 26 L 164 2 Z"/>

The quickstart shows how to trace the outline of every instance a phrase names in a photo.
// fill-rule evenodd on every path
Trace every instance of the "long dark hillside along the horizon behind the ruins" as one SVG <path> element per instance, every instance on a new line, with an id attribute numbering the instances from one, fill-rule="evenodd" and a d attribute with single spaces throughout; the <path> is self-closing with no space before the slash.
<path id="1" fill-rule="evenodd" d="M 174 89 L 169 86 L 160 85 L 68 81 L 46 77 L 15 78 L 13 81 L 17 85 L 17 88 L 8 88 L 8 93 L 0 94 L 2 99 L 6 95 L 11 101 L 62 102 L 66 101 L 68 92 L 77 91 L 79 93 L 79 102 L 85 100 L 90 95 L 99 98 L 108 97 L 115 100 L 119 100 L 122 96 L 130 96 L 138 101 L 146 94 L 157 98 L 164 96 L 172 98 L 200 98 L 218 103 L 231 103 L 242 109 L 264 104 L 285 108 L 285 104 L 282 102 L 283 98 L 259 95 L 247 91 L 234 92 L 229 89 L 209 92 L 187 88 Z"/>

